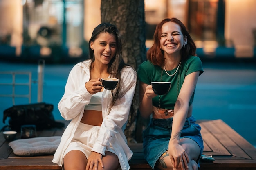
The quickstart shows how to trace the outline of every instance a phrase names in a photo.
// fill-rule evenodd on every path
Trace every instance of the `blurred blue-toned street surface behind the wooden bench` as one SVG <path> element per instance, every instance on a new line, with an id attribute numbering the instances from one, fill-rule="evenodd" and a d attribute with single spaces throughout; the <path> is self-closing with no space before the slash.
<path id="1" fill-rule="evenodd" d="M 62 119 L 58 109 L 68 73 L 72 66 L 45 65 L 43 101 L 54 104 L 55 119 Z M 248 62 L 203 62 L 204 74 L 199 77 L 195 92 L 193 115 L 197 119 L 222 119 L 235 131 L 256 146 L 256 64 Z M 0 61 L 0 71 L 30 71 L 37 80 L 38 65 Z M 22 79 L 22 78 L 21 78 Z M 0 83 L 10 78 L 0 75 Z M 24 80 L 21 80 L 24 81 Z M 17 87 L 16 93 L 27 89 Z M 10 87 L 0 86 L 0 94 L 11 93 Z M 32 84 L 32 103 L 37 102 L 37 84 Z M 15 104 L 28 103 L 27 98 L 17 98 Z M 4 109 L 13 105 L 11 98 L 0 97 L 0 118 Z M 0 128 L 4 126 L 0 122 Z"/>

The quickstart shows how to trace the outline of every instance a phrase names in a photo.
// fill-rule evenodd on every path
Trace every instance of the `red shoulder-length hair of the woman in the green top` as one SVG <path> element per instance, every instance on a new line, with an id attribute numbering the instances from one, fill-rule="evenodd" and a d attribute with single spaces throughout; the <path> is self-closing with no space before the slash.
<path id="1" fill-rule="evenodd" d="M 155 33 L 153 36 L 153 40 L 154 40 L 153 46 L 151 48 L 149 48 L 148 52 L 147 52 L 148 60 L 151 63 L 153 63 L 154 65 L 159 65 L 159 66 L 164 65 L 164 53 L 160 49 L 160 39 L 161 39 L 162 26 L 166 22 L 174 22 L 174 23 L 178 24 L 180 26 L 182 35 L 184 37 L 185 36 L 187 37 L 188 43 L 186 44 L 185 48 L 182 48 L 180 50 L 181 59 L 184 60 L 189 55 L 196 55 L 195 54 L 195 50 L 196 50 L 195 42 L 189 35 L 189 32 L 186 29 L 186 26 L 184 26 L 184 24 L 177 18 L 166 18 L 166 19 L 162 20 L 159 24 L 157 24 L 157 27 L 155 29 Z"/>

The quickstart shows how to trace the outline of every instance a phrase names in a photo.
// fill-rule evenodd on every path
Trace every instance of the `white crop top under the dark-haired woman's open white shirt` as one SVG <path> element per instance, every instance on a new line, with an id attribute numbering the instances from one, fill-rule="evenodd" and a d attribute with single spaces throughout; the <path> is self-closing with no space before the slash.
<path id="1" fill-rule="evenodd" d="M 97 110 L 102 111 L 101 106 L 101 98 L 102 98 L 103 92 L 98 92 L 96 94 L 93 94 L 90 100 L 90 103 L 88 105 L 85 105 L 85 110 Z"/>

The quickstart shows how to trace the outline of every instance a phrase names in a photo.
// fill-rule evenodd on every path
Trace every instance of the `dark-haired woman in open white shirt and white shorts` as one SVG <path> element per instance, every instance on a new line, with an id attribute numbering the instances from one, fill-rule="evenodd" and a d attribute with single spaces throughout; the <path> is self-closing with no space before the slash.
<path id="1" fill-rule="evenodd" d="M 121 35 L 116 26 L 99 24 L 89 41 L 90 59 L 76 64 L 67 79 L 58 109 L 71 120 L 54 154 L 65 170 L 130 168 L 132 151 L 124 129 L 137 82 L 136 71 L 124 64 Z M 114 90 L 101 78 L 118 78 Z"/>

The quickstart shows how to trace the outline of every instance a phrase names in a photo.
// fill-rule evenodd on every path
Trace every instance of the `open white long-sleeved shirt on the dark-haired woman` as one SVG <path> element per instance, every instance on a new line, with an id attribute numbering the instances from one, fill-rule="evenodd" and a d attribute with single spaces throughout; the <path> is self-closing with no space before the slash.
<path id="1" fill-rule="evenodd" d="M 59 166 L 62 166 L 64 151 L 82 119 L 84 106 L 90 103 L 92 97 L 92 94 L 85 88 L 85 82 L 90 80 L 90 65 L 91 60 L 87 60 L 76 64 L 72 68 L 65 86 L 65 93 L 58 103 L 61 116 L 65 120 L 71 120 L 61 137 L 61 142 L 52 160 L 52 162 L 58 163 Z M 123 96 L 116 100 L 112 108 L 109 108 L 113 98 L 111 91 L 104 90 L 103 92 L 101 99 L 103 122 L 92 151 L 105 155 L 106 148 L 109 147 L 111 142 L 122 170 L 128 170 L 130 169 L 128 160 L 132 157 L 132 151 L 127 145 L 124 129 L 135 93 L 137 73 L 131 67 L 124 67 L 121 70 L 121 78 L 119 94 L 123 94 Z"/>

